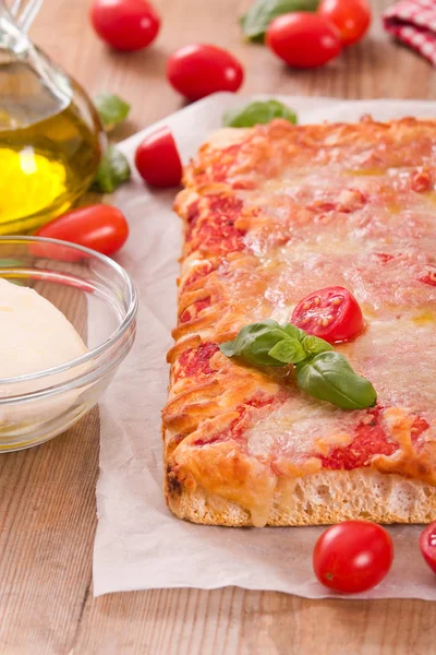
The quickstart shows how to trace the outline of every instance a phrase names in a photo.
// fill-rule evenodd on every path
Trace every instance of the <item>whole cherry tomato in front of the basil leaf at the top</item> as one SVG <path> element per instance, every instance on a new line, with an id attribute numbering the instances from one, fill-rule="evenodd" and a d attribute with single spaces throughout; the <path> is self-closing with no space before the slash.
<path id="1" fill-rule="evenodd" d="M 337 57 L 339 31 L 320 15 L 293 12 L 275 19 L 266 34 L 267 46 L 295 68 L 315 68 Z"/>

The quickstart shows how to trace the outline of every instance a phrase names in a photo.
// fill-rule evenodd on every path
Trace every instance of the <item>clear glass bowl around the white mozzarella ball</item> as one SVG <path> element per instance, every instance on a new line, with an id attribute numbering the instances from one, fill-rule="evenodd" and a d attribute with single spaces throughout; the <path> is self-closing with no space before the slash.
<path id="1" fill-rule="evenodd" d="M 33 287 L 74 325 L 88 352 L 51 369 L 1 378 L 0 452 L 37 445 L 70 428 L 108 388 L 130 352 L 137 296 L 109 258 L 39 237 L 0 237 L 0 277 Z"/>

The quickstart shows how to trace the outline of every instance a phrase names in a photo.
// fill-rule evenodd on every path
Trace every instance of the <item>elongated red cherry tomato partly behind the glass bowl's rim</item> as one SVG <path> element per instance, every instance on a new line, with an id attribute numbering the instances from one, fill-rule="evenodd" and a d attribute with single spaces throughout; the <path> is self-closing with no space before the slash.
<path id="1" fill-rule="evenodd" d="M 95 204 L 78 207 L 59 216 L 56 221 L 40 227 L 36 235 L 70 241 L 110 255 L 120 250 L 125 243 L 129 236 L 129 225 L 124 215 L 117 207 Z M 37 246 L 38 257 L 73 261 L 81 259 L 78 251 L 74 253 L 69 249 L 64 249 L 62 253 L 59 246 Z"/>

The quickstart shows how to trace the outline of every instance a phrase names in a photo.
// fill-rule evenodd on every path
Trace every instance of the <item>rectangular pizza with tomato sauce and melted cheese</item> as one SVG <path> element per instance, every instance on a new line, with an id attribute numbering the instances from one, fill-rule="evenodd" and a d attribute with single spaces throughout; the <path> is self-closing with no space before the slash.
<path id="1" fill-rule="evenodd" d="M 184 183 L 169 508 L 229 526 L 435 520 L 436 121 L 225 129 Z M 335 353 L 371 381 L 371 406 L 342 408 L 306 393 L 293 365 L 220 349 L 246 325 L 284 329 L 306 297 L 303 323 L 322 336 L 338 289 L 363 323 Z"/>

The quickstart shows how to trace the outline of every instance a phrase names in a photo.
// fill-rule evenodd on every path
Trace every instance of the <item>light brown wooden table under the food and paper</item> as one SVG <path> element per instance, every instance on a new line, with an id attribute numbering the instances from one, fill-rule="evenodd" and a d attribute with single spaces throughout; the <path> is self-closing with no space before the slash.
<path id="1" fill-rule="evenodd" d="M 162 29 L 143 52 L 109 52 L 93 34 L 88 0 L 46 0 L 33 37 L 90 94 L 132 103 L 125 136 L 181 107 L 164 71 L 190 41 L 230 47 L 245 92 L 348 98 L 434 98 L 434 69 L 380 28 L 324 70 L 290 72 L 240 40 L 235 0 L 157 0 Z M 246 4 L 245 4 L 246 5 Z M 435 652 L 436 604 L 306 600 L 225 588 L 153 591 L 93 599 L 98 413 L 34 450 L 0 456 L 0 654 L 351 655 Z"/>

